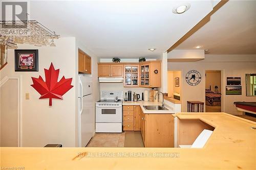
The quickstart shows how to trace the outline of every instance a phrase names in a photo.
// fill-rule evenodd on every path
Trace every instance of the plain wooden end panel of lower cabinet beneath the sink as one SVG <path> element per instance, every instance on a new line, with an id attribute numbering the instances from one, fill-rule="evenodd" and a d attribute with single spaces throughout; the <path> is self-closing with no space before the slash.
<path id="1" fill-rule="evenodd" d="M 141 135 L 144 147 L 174 147 L 174 117 L 172 114 L 141 114 Z"/>

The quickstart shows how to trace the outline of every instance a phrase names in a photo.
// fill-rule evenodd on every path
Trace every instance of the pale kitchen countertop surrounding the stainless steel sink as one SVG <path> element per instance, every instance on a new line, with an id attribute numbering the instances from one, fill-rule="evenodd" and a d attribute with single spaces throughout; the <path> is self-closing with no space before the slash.
<path id="1" fill-rule="evenodd" d="M 174 114 L 174 110 L 172 107 L 165 105 L 165 107 L 169 110 L 146 110 L 143 106 L 146 105 L 161 105 L 161 102 L 145 102 L 145 101 L 138 101 L 138 102 L 133 102 L 133 101 L 123 101 L 123 106 L 125 105 L 137 105 L 140 106 L 141 110 L 145 114 Z"/>

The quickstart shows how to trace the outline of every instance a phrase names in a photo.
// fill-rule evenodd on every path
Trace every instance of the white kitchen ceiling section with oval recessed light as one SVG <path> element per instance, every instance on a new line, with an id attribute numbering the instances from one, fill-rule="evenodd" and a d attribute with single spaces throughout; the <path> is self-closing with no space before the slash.
<path id="1" fill-rule="evenodd" d="M 30 19 L 61 37 L 77 37 L 100 58 L 156 58 L 219 1 L 186 2 L 190 9 L 174 14 L 183 1 L 31 1 Z"/>

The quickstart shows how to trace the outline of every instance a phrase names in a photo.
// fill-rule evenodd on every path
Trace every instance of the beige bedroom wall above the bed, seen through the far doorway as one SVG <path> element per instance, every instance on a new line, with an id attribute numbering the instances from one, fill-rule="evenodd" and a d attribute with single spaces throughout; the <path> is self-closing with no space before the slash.
<path id="1" fill-rule="evenodd" d="M 221 92 L 221 71 L 206 70 L 205 75 L 205 89 L 209 89 L 211 86 L 211 91 L 215 91 L 215 86 L 218 86 L 217 92 Z"/>

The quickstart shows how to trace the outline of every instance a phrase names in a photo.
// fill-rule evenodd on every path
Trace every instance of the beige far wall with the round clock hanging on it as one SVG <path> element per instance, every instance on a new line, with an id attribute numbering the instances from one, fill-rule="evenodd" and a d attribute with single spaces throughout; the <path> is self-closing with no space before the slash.
<path id="1" fill-rule="evenodd" d="M 196 69 L 202 75 L 202 81 L 197 86 L 190 86 L 185 81 L 186 73 Z M 168 63 L 168 70 L 182 70 L 181 93 L 182 112 L 187 111 L 187 101 L 205 102 L 205 70 L 222 70 L 222 100 L 223 111 L 231 114 L 241 114 L 234 107 L 235 101 L 255 101 L 253 96 L 246 96 L 245 74 L 256 72 L 256 55 L 206 55 L 204 60 L 197 62 L 172 62 Z M 241 77 L 242 95 L 225 95 L 227 77 Z"/>

